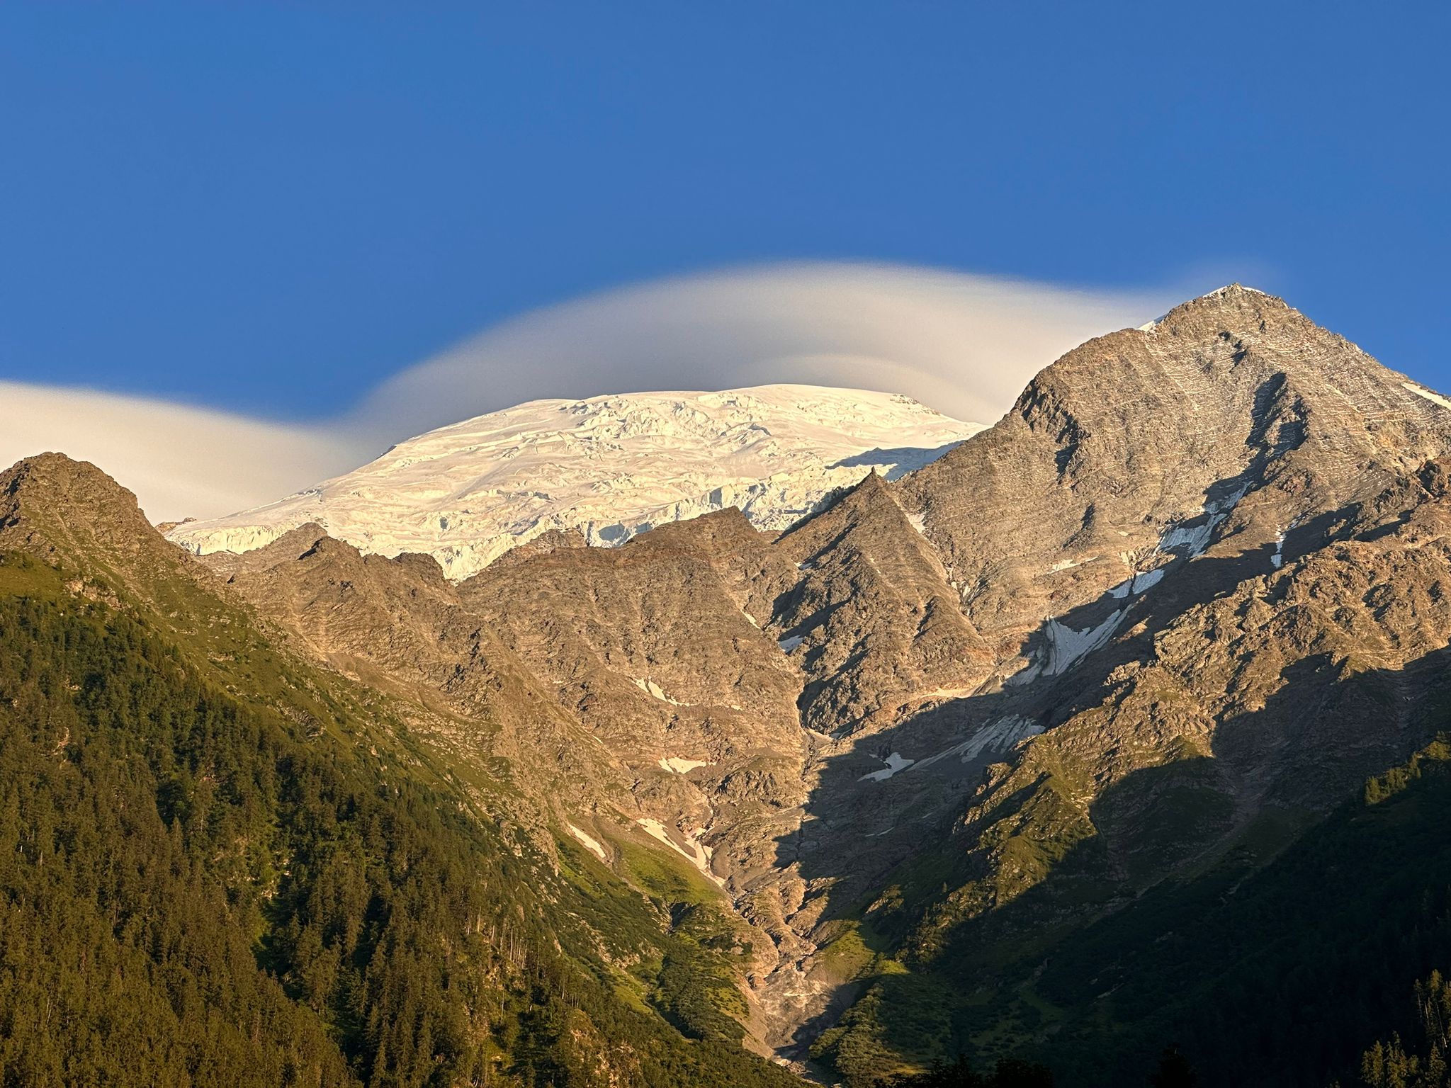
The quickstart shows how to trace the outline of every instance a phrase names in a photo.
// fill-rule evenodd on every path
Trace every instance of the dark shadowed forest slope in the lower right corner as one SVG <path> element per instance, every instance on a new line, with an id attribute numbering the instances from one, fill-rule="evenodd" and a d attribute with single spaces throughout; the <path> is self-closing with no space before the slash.
<path id="1" fill-rule="evenodd" d="M 817 1055 L 871 1084 L 900 1055 L 930 1060 L 907 1029 L 936 1018 L 936 1053 L 1027 1055 L 1090 1088 L 1145 1084 L 1170 1039 L 1204 1088 L 1351 1084 L 1373 1040 L 1421 1037 L 1405 994 L 1451 962 L 1448 814 L 1438 740 L 1307 830 L 1271 812 L 1213 865 L 1087 924 L 1046 924 L 1072 915 L 1030 892 L 939 960 L 872 979 Z"/>

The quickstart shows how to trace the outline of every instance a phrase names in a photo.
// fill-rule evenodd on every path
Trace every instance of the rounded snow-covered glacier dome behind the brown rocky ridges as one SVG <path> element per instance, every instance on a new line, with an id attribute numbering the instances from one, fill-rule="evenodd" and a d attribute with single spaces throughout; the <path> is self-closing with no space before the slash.
<path id="1" fill-rule="evenodd" d="M 818 386 L 531 400 L 168 535 L 199 554 L 250 551 L 318 522 L 363 551 L 428 553 L 457 580 L 548 529 L 614 545 L 727 506 L 785 528 L 830 490 L 918 469 L 979 429 L 907 396 Z"/>

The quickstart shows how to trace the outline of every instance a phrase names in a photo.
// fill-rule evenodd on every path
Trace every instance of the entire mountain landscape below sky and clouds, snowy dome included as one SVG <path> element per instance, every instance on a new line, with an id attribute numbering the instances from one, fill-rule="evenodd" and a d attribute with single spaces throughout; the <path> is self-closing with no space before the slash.
<path id="1" fill-rule="evenodd" d="M 170 540 L 103 467 L 0 474 L 0 1084 L 1348 1088 L 1451 965 L 1451 402 L 1261 292 L 987 429 L 534 402 Z"/>

